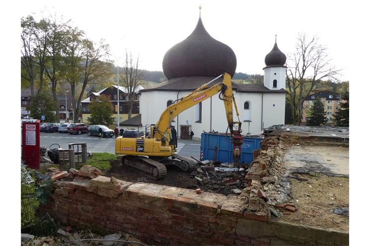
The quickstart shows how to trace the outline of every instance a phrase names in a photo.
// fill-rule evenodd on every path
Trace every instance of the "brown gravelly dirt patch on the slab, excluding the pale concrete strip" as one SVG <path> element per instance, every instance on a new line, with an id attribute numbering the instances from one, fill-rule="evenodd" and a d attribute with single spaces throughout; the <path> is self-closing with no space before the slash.
<path id="1" fill-rule="evenodd" d="M 333 213 L 335 208 L 349 209 L 348 178 L 294 173 L 290 184 L 292 198 L 286 203 L 294 204 L 297 211 L 285 212 L 280 221 L 349 232 L 349 212 Z"/>

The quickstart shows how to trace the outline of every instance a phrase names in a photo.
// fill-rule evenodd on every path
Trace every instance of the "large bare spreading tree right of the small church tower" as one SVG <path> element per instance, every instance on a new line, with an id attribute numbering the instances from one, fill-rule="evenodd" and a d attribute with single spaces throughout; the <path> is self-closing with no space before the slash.
<path id="1" fill-rule="evenodd" d="M 298 34 L 296 52 L 288 56 L 287 86 L 296 125 L 302 121 L 304 99 L 323 80 L 337 80 L 340 70 L 330 64 L 326 51 L 317 37 L 307 38 L 305 34 Z"/>

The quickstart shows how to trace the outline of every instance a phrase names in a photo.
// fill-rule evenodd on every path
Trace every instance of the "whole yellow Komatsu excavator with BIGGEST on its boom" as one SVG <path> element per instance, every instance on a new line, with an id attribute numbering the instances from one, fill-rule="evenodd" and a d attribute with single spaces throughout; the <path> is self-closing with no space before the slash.
<path id="1" fill-rule="evenodd" d="M 222 82 L 207 88 L 216 79 L 223 76 Z M 228 129 L 233 142 L 234 166 L 238 166 L 241 153 L 241 122 L 231 87 L 231 76 L 223 73 L 210 82 L 203 84 L 195 91 L 175 101 L 168 106 L 156 124 L 148 125 L 146 134 L 140 136 L 133 131 L 125 131 L 122 137 L 116 138 L 115 153 L 122 156 L 122 164 L 133 167 L 140 173 L 152 178 L 160 179 L 166 176 L 166 165 L 176 165 L 185 172 L 196 170 L 196 162 L 177 154 L 177 132 L 171 125 L 172 120 L 181 112 L 216 95 L 224 102 Z M 233 121 L 232 106 L 234 105 L 237 122 Z"/>

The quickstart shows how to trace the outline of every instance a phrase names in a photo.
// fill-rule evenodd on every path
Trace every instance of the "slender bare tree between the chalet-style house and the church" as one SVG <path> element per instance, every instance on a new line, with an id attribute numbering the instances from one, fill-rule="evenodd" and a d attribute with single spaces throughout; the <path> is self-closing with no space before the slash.
<path id="1" fill-rule="evenodd" d="M 134 102 L 137 101 L 137 92 L 141 85 L 146 83 L 148 78 L 148 72 L 146 70 L 139 69 L 139 56 L 134 62 L 132 54 L 127 53 L 126 50 L 126 59 L 125 65 L 123 67 L 123 86 L 127 89 L 126 102 L 129 107 L 128 119 L 131 119 L 132 108 Z"/>

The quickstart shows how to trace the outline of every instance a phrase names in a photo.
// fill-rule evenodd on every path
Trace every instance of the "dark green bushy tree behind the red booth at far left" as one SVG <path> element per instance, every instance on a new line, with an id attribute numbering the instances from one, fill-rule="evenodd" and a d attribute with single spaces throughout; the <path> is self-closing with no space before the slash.
<path id="1" fill-rule="evenodd" d="M 31 96 L 30 104 L 27 108 L 27 110 L 31 111 L 30 115 L 33 119 L 41 119 L 41 116 L 45 116 L 44 122 L 55 122 L 57 109 L 57 102 L 47 92 Z"/>

